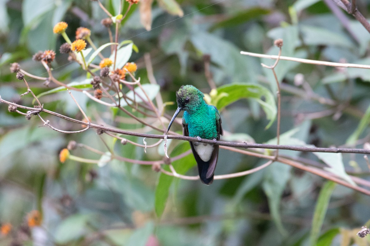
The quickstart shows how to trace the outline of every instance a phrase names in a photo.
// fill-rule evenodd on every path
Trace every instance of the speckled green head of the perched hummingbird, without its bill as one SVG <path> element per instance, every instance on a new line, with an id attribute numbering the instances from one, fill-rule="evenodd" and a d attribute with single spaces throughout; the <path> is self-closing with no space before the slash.
<path id="1" fill-rule="evenodd" d="M 204 94 L 194 86 L 181 86 L 176 92 L 177 107 L 182 110 L 191 111 L 203 102 Z"/>

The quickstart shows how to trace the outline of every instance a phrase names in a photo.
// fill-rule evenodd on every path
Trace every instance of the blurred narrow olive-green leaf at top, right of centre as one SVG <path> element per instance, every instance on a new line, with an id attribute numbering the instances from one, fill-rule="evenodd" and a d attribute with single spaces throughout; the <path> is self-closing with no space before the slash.
<path id="1" fill-rule="evenodd" d="M 222 20 L 216 23 L 210 28 L 209 31 L 212 32 L 217 28 L 223 28 L 223 27 L 234 27 L 236 25 L 243 24 L 249 20 L 252 20 L 252 19 L 255 20 L 261 15 L 265 15 L 269 13 L 270 13 L 270 10 L 266 8 L 260 8 L 260 7 L 249 8 L 248 10 L 235 14 L 232 17 L 227 18 L 226 20 Z"/>

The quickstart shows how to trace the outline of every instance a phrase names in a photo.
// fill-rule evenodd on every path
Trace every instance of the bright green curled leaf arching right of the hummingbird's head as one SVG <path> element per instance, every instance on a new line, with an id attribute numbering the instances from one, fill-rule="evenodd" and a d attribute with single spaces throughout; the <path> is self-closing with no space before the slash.
<path id="1" fill-rule="evenodd" d="M 226 93 L 228 96 L 222 97 L 218 100 L 216 107 L 222 110 L 227 105 L 241 99 L 241 98 L 252 98 L 256 100 L 261 106 L 263 111 L 266 113 L 267 119 L 270 120 L 266 129 L 269 128 L 276 118 L 276 104 L 275 98 L 272 93 L 259 84 L 227 84 L 217 89 L 217 93 Z M 265 101 L 261 99 L 265 98 Z"/>

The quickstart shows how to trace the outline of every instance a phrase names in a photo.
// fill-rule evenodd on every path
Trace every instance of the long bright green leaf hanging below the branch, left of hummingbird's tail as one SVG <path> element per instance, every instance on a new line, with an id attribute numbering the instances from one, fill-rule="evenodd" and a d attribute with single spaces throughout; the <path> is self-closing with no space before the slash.
<path id="1" fill-rule="evenodd" d="M 176 148 L 171 152 L 170 157 L 175 157 L 181 153 L 186 152 L 190 149 L 190 145 L 187 142 L 180 143 Z M 191 167 L 195 166 L 196 162 L 193 155 L 187 155 L 182 157 L 179 160 L 172 162 L 172 166 L 175 168 L 176 172 L 179 174 L 185 174 Z M 164 165 L 165 170 L 170 171 L 168 165 Z M 155 213 L 158 218 L 163 214 L 163 211 L 166 206 L 169 187 L 172 184 L 174 177 L 168 176 L 164 173 L 161 173 L 159 176 L 159 182 L 157 189 L 155 190 Z"/>

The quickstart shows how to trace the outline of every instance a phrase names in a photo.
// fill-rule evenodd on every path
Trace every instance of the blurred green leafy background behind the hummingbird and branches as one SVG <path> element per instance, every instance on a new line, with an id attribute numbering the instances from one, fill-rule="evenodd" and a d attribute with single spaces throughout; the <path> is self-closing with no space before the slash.
<path id="1" fill-rule="evenodd" d="M 119 0 L 101 3 L 113 16 L 120 14 Z M 215 85 L 218 94 L 210 93 L 209 98 L 221 110 L 226 131 L 223 140 L 275 143 L 276 82 L 272 71 L 260 65 L 272 65 L 274 60 L 243 56 L 240 51 L 276 55 L 279 49 L 273 41 L 282 38 L 283 56 L 370 64 L 369 32 L 333 3 L 141 1 L 132 5 L 122 21 L 118 41 L 132 41 L 125 43 L 124 47 L 131 48 L 124 55 L 137 64 L 135 77 L 140 77 L 152 100 L 157 97 L 154 103 L 158 107 L 161 95 L 165 125 L 176 108 L 175 91 L 181 85 L 193 84 L 207 94 Z M 122 14 L 128 5 L 124 1 Z M 357 6 L 365 17 L 369 16 L 369 1 L 358 0 Z M 0 1 L 1 98 L 28 107 L 35 104 L 31 94 L 20 98 L 26 86 L 9 67 L 18 62 L 21 69 L 47 77 L 44 66 L 32 56 L 48 49 L 57 53 L 51 62 L 57 80 L 91 91 L 91 75 L 59 52 L 65 41 L 53 33 L 53 27 L 57 22 L 67 22 L 66 33 L 71 40 L 78 27 L 90 28 L 91 39 L 99 47 L 110 42 L 107 28 L 100 23 L 107 17 L 97 1 Z M 114 29 L 113 25 L 113 35 Z M 101 53 L 109 57 L 110 48 Z M 158 85 L 149 83 L 151 72 L 145 54 Z M 124 61 L 122 56 L 119 58 Z M 92 63 L 99 62 L 97 56 Z M 282 89 L 281 144 L 369 148 L 369 70 L 285 60 L 280 60 L 275 70 Z M 40 96 L 44 108 L 84 119 L 66 90 L 50 93 L 57 84 L 50 82 L 46 86 L 44 80 L 25 78 L 36 95 L 48 91 Z M 127 79 L 133 81 L 129 76 Z M 233 83 L 240 87 L 230 87 Z M 240 93 L 242 89 L 251 93 Z M 122 90 L 129 95 L 129 87 Z M 217 95 L 225 91 L 229 98 L 219 99 Z M 92 101 L 79 91 L 72 93 L 93 123 L 134 132 L 164 133 L 122 110 Z M 108 99 L 103 98 L 109 102 Z M 135 105 L 124 108 L 161 128 L 158 121 L 143 117 Z M 152 114 L 148 109 L 145 112 Z M 58 129 L 84 129 L 58 117 L 44 113 L 43 117 Z M 269 122 L 273 124 L 266 128 Z M 248 176 L 215 180 L 205 186 L 199 180 L 157 173 L 152 165 L 111 158 L 114 154 L 155 164 L 152 161 L 165 158 L 163 143 L 144 152 L 130 142 L 123 145 L 121 139 L 98 135 L 94 129 L 64 134 L 41 125 L 36 115 L 27 121 L 24 115 L 8 112 L 7 104 L 0 104 L 0 245 L 293 246 L 370 242 L 356 236 L 370 219 L 370 197 L 307 171 L 273 163 Z M 179 124 L 171 129 L 181 133 Z M 143 144 L 142 137 L 121 137 Z M 77 149 L 70 148 L 71 155 L 95 163 L 72 160 L 73 157 L 61 163 L 60 150 L 70 141 L 78 144 Z M 151 145 L 157 139 L 145 141 Z M 100 152 L 91 152 L 86 146 Z M 186 152 L 189 144 L 169 140 L 167 147 L 174 157 Z M 262 153 L 272 155 L 272 150 Z M 351 177 L 360 177 L 368 184 L 369 168 L 361 154 L 320 156 L 282 150 L 280 154 L 331 173 L 345 169 Z M 216 174 L 244 171 L 265 162 L 221 149 Z M 196 175 L 192 155 L 172 164 L 179 173 Z M 348 177 L 345 172 L 336 175 Z"/>

